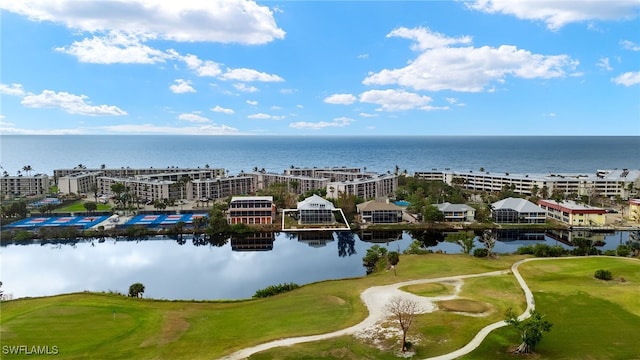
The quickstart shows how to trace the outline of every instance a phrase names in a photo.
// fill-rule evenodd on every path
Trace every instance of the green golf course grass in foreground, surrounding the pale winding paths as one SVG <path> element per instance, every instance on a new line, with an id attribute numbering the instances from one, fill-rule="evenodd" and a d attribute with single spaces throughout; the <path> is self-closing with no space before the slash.
<path id="1" fill-rule="evenodd" d="M 154 301 L 93 293 L 19 299 L 2 303 L 0 335 L 3 346 L 57 346 L 58 356 L 64 359 L 215 359 L 274 339 L 330 332 L 356 324 L 366 317 L 359 294 L 373 285 L 509 269 L 522 258 L 403 255 L 397 276 L 388 271 L 326 281 L 272 298 L 241 302 Z M 624 277 L 626 282 L 593 279 L 593 273 L 600 268 L 611 270 L 615 278 Z M 521 269 L 532 286 L 538 308 L 554 323 L 552 332 L 538 348 L 542 357 L 536 359 L 640 357 L 635 341 L 635 334 L 640 332 L 639 262 L 618 258 L 552 260 L 526 263 Z M 409 290 L 438 295 L 451 291 L 448 284 Z M 489 308 L 489 315 L 470 317 L 445 311 L 421 315 L 411 331 L 420 339 L 415 345 L 417 358 L 455 350 L 487 323 L 502 319 L 507 307 L 519 311 L 524 308 L 522 291 L 511 275 L 467 279 L 461 296 Z M 508 329 L 498 330 L 468 358 L 514 358 L 506 354 L 506 349 L 517 340 Z M 632 343 L 634 346 L 630 346 Z M 3 354 L 2 358 L 20 357 Z M 396 356 L 390 350 L 378 350 L 345 336 L 292 346 L 286 352 L 273 349 L 252 358 Z"/>

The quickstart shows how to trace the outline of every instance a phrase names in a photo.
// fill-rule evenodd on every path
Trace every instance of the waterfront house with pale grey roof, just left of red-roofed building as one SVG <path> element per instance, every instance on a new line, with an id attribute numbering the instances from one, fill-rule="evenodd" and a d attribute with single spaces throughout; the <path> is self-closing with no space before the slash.
<path id="1" fill-rule="evenodd" d="M 544 224 L 546 211 L 519 198 L 506 198 L 491 204 L 491 218 L 498 224 Z"/>

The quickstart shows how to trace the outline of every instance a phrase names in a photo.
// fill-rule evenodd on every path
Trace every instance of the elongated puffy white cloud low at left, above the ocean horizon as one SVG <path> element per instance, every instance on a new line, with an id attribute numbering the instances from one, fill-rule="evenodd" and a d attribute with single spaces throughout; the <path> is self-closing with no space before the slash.
<path id="1" fill-rule="evenodd" d="M 21 104 L 32 108 L 60 108 L 69 114 L 88 116 L 121 116 L 127 112 L 113 105 L 90 105 L 86 95 L 74 95 L 68 92 L 43 90 L 39 95 L 28 94 Z"/>

